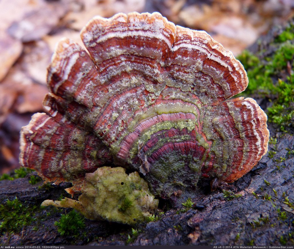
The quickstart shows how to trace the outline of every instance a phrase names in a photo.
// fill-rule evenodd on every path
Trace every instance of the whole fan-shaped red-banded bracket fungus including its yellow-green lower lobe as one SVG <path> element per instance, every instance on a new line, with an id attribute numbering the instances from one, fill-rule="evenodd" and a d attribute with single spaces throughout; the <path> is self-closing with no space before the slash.
<path id="1" fill-rule="evenodd" d="M 57 44 L 47 114 L 21 131 L 21 164 L 82 192 L 78 202 L 45 204 L 131 223 L 117 214 L 136 207 L 128 215 L 140 220 L 156 208 L 153 195 L 169 199 L 199 178 L 233 182 L 267 152 L 263 110 L 252 98 L 231 98 L 248 85 L 242 64 L 206 32 L 133 12 L 94 17 L 81 38 L 87 51 L 69 39 Z M 106 197 L 114 199 L 107 214 L 99 204 Z"/>

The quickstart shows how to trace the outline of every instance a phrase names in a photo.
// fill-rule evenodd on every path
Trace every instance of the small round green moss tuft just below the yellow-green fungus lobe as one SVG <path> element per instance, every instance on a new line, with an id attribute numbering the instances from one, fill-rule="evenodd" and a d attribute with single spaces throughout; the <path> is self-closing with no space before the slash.
<path id="1" fill-rule="evenodd" d="M 61 236 L 78 236 L 81 230 L 85 228 L 85 219 L 81 214 L 72 210 L 68 214 L 62 214 L 59 221 L 56 221 L 54 225 L 58 227 L 57 231 Z"/>

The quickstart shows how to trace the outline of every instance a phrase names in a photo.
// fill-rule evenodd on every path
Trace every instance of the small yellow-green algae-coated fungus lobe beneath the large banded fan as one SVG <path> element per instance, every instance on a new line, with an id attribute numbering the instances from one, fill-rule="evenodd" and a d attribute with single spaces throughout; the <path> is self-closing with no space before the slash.
<path id="1" fill-rule="evenodd" d="M 91 220 L 106 219 L 126 224 L 144 221 L 158 206 L 149 193 L 148 183 L 138 172 L 125 173 L 121 167 L 102 167 L 87 173 L 78 201 L 45 200 L 42 205 L 75 208 Z"/>

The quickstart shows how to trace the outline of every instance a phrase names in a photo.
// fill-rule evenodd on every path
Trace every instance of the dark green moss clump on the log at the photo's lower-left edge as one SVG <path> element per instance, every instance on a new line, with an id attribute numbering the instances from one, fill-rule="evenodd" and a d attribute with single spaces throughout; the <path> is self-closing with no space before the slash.
<path id="1" fill-rule="evenodd" d="M 0 232 L 19 232 L 24 226 L 35 220 L 33 216 L 36 209 L 36 206 L 28 206 L 17 198 L 6 200 L 0 205 Z"/>

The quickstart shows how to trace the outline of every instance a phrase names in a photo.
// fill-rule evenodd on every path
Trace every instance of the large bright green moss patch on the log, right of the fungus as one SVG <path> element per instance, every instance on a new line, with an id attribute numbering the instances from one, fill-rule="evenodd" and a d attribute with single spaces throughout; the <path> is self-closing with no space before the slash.
<path id="1" fill-rule="evenodd" d="M 264 58 L 262 51 L 256 56 L 245 50 L 238 57 L 249 78 L 248 88 L 239 95 L 260 94 L 273 99 L 272 106 L 267 110 L 268 121 L 275 123 L 281 131 L 291 132 L 294 128 L 294 106 L 291 105 L 294 98 L 294 74 L 290 73 L 293 70 L 293 36 L 293 25 L 290 25 L 271 44 L 275 50 L 271 56 Z M 289 76 L 285 77 L 287 73 Z"/>

